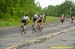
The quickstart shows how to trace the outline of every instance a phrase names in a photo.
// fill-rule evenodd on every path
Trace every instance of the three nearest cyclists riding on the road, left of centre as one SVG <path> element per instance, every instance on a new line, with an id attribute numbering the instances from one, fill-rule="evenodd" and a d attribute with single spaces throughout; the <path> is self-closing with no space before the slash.
<path id="1" fill-rule="evenodd" d="M 33 29 L 33 31 L 36 32 L 36 30 L 35 30 L 36 28 L 39 31 L 41 31 L 42 28 L 43 28 L 43 25 L 45 23 L 45 20 L 46 20 L 45 14 L 40 14 L 40 15 L 39 14 L 34 14 L 34 16 L 32 17 L 32 27 L 33 27 L 32 29 Z M 29 23 L 29 16 L 27 14 L 24 15 L 21 22 L 22 22 L 21 28 L 23 28 L 22 31 L 24 32 L 24 31 L 26 31 L 25 28 Z"/>

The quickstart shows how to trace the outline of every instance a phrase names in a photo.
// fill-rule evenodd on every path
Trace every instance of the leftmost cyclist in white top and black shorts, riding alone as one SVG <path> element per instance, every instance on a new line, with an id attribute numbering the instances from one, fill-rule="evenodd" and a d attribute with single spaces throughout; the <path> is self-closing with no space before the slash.
<path id="1" fill-rule="evenodd" d="M 25 16 L 23 16 L 21 22 L 22 22 L 22 25 L 21 25 L 22 32 L 26 33 L 26 31 L 27 31 L 27 24 L 29 22 L 29 17 L 28 17 L 27 14 Z"/>

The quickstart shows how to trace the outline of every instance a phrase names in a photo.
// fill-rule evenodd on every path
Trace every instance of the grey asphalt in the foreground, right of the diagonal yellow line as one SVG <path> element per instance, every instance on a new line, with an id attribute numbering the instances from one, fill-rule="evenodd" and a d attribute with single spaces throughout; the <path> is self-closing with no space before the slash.
<path id="1" fill-rule="evenodd" d="M 75 28 L 22 49 L 75 49 Z"/>

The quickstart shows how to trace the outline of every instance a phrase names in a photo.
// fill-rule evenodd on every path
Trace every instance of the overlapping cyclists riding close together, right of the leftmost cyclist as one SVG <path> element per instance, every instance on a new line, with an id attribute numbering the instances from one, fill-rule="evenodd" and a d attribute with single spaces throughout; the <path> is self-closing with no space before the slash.
<path id="1" fill-rule="evenodd" d="M 35 29 L 41 31 L 43 29 L 43 25 L 45 23 L 46 16 L 45 14 L 35 14 L 32 18 L 33 20 L 33 30 L 36 32 Z"/>

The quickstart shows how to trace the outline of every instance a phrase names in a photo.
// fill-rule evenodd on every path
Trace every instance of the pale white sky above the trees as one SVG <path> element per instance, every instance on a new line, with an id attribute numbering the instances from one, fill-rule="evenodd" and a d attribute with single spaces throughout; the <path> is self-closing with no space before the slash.
<path id="1" fill-rule="evenodd" d="M 35 0 L 35 2 L 38 2 L 40 3 L 40 6 L 42 8 L 45 8 L 47 7 L 48 5 L 60 5 L 61 3 L 63 3 L 65 0 Z"/>

